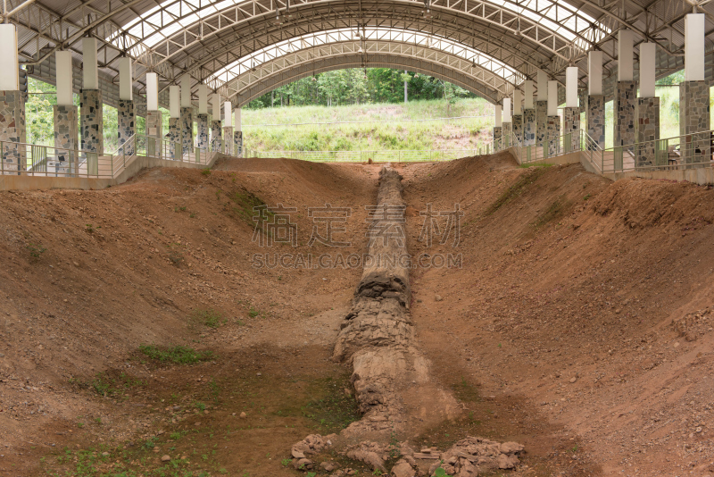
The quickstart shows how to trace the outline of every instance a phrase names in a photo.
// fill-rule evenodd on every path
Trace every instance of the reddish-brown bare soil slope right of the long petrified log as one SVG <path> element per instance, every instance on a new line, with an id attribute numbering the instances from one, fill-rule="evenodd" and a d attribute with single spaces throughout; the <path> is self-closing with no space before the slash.
<path id="1" fill-rule="evenodd" d="M 571 466 L 714 474 L 711 188 L 521 169 L 507 155 L 402 173 L 412 210 L 465 211 L 463 267 L 412 274 L 419 341 L 444 383 L 523 397 L 562 426 Z M 423 217 L 410 221 L 417 238 Z"/>

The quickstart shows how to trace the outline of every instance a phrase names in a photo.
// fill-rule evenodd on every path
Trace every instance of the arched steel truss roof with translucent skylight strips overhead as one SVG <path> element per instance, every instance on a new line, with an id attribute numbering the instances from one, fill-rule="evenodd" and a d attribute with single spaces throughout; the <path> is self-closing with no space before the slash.
<path id="1" fill-rule="evenodd" d="M 584 84 L 585 57 L 591 49 L 604 52 L 606 75 L 613 77 L 619 29 L 632 29 L 639 41 L 659 45 L 659 76 L 680 69 L 684 17 L 693 5 L 707 17 L 706 51 L 714 46 L 709 39 L 714 4 L 700 0 L 7 0 L 7 4 L 9 21 L 19 29 L 21 63 L 30 74 L 33 67 L 44 71 L 43 63 L 57 49 L 73 51 L 79 65 L 80 39 L 92 35 L 101 42 L 104 81 L 115 82 L 116 60 L 128 55 L 137 61 L 138 88 L 148 70 L 159 72 L 163 85 L 187 72 L 197 84 L 256 51 L 334 29 L 394 29 L 446 38 L 530 79 L 537 69 L 562 79 L 567 66 L 577 65 Z M 707 63 L 710 73 L 711 55 Z"/>

